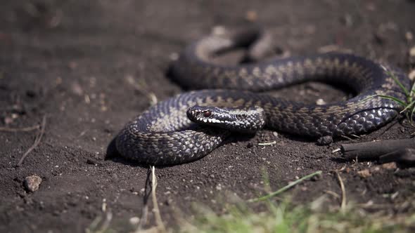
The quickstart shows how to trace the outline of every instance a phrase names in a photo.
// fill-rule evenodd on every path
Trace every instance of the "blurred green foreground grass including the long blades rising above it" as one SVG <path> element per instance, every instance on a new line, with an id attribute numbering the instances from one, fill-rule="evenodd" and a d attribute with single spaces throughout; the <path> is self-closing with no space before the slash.
<path id="1" fill-rule="evenodd" d="M 305 175 L 276 192 L 257 199 L 227 204 L 222 213 L 207 206 L 196 205 L 196 217 L 179 232 L 411 232 L 415 229 L 415 213 L 386 215 L 384 212 L 367 213 L 357 204 L 344 204 L 340 208 L 324 208 L 328 195 L 324 194 L 309 204 L 295 206 L 289 199 L 277 203 L 277 194 L 303 180 L 320 175 L 321 171 Z M 344 189 L 343 181 L 340 185 Z M 344 195 L 344 194 L 343 194 Z M 343 196 L 345 197 L 345 196 Z M 289 196 L 288 196 L 289 198 Z M 257 202 L 261 201 L 261 202 Z M 253 202 L 257 202 L 253 204 Z M 258 211 L 262 209 L 265 211 Z"/>

